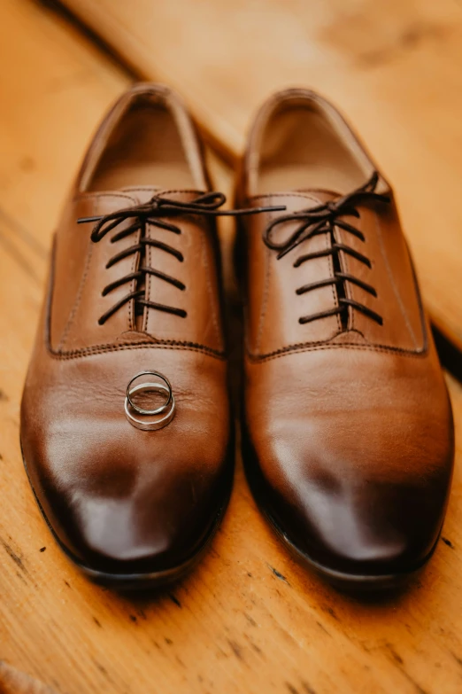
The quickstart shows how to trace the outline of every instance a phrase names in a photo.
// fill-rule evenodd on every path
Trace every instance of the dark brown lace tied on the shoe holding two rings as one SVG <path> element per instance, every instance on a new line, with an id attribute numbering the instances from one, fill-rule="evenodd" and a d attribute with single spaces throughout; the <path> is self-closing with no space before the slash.
<path id="1" fill-rule="evenodd" d="M 252 209 L 242 209 L 242 210 L 220 210 L 221 207 L 226 202 L 226 196 L 221 192 L 207 192 L 203 195 L 198 195 L 195 199 L 189 202 L 181 202 L 180 200 L 173 200 L 168 198 L 162 198 L 161 196 L 154 195 L 148 202 L 141 205 L 134 205 L 133 207 L 127 207 L 125 209 L 118 210 L 117 212 L 111 212 L 109 214 L 103 214 L 101 216 L 94 217 L 81 217 L 77 220 L 79 224 L 85 224 L 88 222 L 96 222 L 92 232 L 91 240 L 94 243 L 98 243 L 102 238 L 106 236 L 110 231 L 115 229 L 119 224 L 125 222 L 126 220 L 133 220 L 133 222 L 126 228 L 118 233 L 116 233 L 111 238 L 111 243 L 117 243 L 122 238 L 126 238 L 135 231 L 141 230 L 141 238 L 139 242 L 134 246 L 130 246 L 120 253 L 116 253 L 112 256 L 110 261 L 106 264 L 106 269 L 112 268 L 115 263 L 127 258 L 134 253 L 144 254 L 144 249 L 146 246 L 151 246 L 153 248 L 158 248 L 165 253 L 170 253 L 178 261 L 183 262 L 183 254 L 174 248 L 169 246 L 163 241 L 159 241 L 156 238 L 149 238 L 146 235 L 146 230 L 148 224 L 158 227 L 158 229 L 165 229 L 171 231 L 173 234 L 181 234 L 181 229 L 176 226 L 176 224 L 166 222 L 168 217 L 179 217 L 184 214 L 200 214 L 208 217 L 222 217 L 222 216 L 237 216 L 243 214 L 259 214 L 262 212 L 282 212 L 286 209 L 285 206 L 276 207 L 255 207 Z M 135 272 L 131 272 L 124 277 L 112 282 L 110 285 L 106 285 L 103 290 L 103 296 L 106 296 L 114 289 L 121 285 L 125 285 L 128 282 L 135 281 L 139 287 L 145 277 L 151 275 L 153 277 L 158 277 L 159 279 L 168 282 L 184 291 L 186 285 L 184 285 L 179 279 L 166 275 L 166 273 L 161 272 L 158 269 L 149 268 L 146 265 L 142 265 Z M 127 301 L 135 300 L 136 312 L 141 314 L 144 307 L 155 308 L 158 311 L 164 311 L 165 313 L 173 314 L 173 316 L 180 316 L 181 318 L 186 318 L 187 313 L 183 308 L 174 308 L 172 306 L 166 306 L 165 304 L 159 304 L 155 301 L 150 301 L 146 299 L 146 289 L 135 288 L 133 292 L 127 293 L 121 300 L 112 306 L 103 316 L 99 318 L 98 323 L 103 325 L 108 318 L 110 318 L 116 311 L 124 306 Z"/>

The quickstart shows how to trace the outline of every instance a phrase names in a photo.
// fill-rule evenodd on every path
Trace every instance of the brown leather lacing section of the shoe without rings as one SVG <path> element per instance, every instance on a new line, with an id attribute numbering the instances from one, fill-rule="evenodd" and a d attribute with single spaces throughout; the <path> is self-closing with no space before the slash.
<path id="1" fill-rule="evenodd" d="M 297 212 L 320 205 L 334 194 L 324 191 L 294 191 L 273 195 L 253 196 L 251 206 L 285 205 L 289 212 Z M 342 229 L 337 230 L 340 243 L 348 244 L 358 253 L 373 259 L 367 268 L 354 257 L 344 255 L 345 272 L 364 279 L 370 285 L 379 286 L 377 297 L 364 292 L 356 285 L 347 285 L 347 296 L 365 302 L 383 317 L 383 325 L 373 323 L 367 316 L 349 308 L 349 328 L 342 331 L 339 316 L 329 316 L 310 324 L 299 324 L 298 318 L 320 310 L 338 306 L 338 298 L 332 285 L 316 292 L 296 296 L 296 289 L 310 282 L 333 276 L 332 259 L 323 257 L 310 261 L 310 266 L 294 268 L 294 260 L 303 253 L 316 253 L 332 245 L 324 236 L 313 237 L 295 251 L 277 259 L 277 254 L 262 243 L 262 235 L 271 214 L 258 215 L 250 222 L 249 261 L 252 281 L 252 301 L 248 304 L 247 346 L 255 356 L 271 355 L 297 345 L 334 343 L 373 345 L 374 347 L 421 352 L 426 343 L 420 299 L 416 292 L 415 277 L 403 234 L 397 221 L 393 204 L 382 204 L 375 211 L 362 207 L 361 217 L 355 227 L 363 231 L 366 242 L 352 237 Z M 273 213 L 275 216 L 277 213 Z M 289 233 L 290 224 L 281 233 Z M 393 261 L 393 272 L 389 259 Z"/>

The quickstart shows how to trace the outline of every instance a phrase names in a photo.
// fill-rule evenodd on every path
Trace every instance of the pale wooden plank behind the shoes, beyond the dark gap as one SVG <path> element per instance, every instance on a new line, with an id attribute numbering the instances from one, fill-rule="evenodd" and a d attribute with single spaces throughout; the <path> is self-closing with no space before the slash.
<path id="1" fill-rule="evenodd" d="M 459 0 L 63 1 L 231 157 L 273 90 L 333 99 L 395 186 L 427 305 L 462 348 Z"/>

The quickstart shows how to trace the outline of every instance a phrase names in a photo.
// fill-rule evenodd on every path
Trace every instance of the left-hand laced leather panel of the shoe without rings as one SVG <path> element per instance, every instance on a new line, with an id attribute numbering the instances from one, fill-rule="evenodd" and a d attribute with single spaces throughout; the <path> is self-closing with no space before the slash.
<path id="1" fill-rule="evenodd" d="M 305 193 L 258 196 L 252 199 L 255 206 L 280 205 L 287 207 L 287 214 L 320 204 L 320 199 Z M 274 214 L 274 213 L 272 213 Z M 338 316 L 326 316 L 301 324 L 300 318 L 312 316 L 338 307 L 334 285 L 326 285 L 314 291 L 297 293 L 297 290 L 320 280 L 334 277 L 330 255 L 305 261 L 294 267 L 297 258 L 311 253 L 323 253 L 331 247 L 327 234 L 307 238 L 299 246 L 278 259 L 278 252 L 268 248 L 263 235 L 275 217 L 258 214 L 249 224 L 248 257 L 248 347 L 251 354 L 267 355 L 273 352 L 332 339 L 341 330 Z M 280 216 L 284 213 L 276 213 Z M 276 242 L 289 238 L 300 222 L 286 222 L 273 230 Z"/>

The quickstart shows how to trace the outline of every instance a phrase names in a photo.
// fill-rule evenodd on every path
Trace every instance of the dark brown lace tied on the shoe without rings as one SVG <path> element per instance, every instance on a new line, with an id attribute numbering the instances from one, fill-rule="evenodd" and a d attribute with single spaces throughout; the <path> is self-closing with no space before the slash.
<path id="1" fill-rule="evenodd" d="M 330 236 L 330 246 L 326 250 L 301 255 L 294 262 L 294 268 L 300 267 L 300 265 L 306 261 L 311 261 L 315 258 L 322 258 L 330 255 L 333 261 L 334 276 L 299 287 L 296 290 L 296 294 L 300 295 L 306 292 L 312 292 L 312 290 L 320 287 L 335 285 L 339 305 L 336 308 L 320 311 L 319 313 L 312 314 L 311 316 L 303 316 L 298 319 L 300 324 L 311 323 L 312 321 L 316 321 L 327 316 L 339 315 L 341 316 L 343 330 L 345 330 L 348 325 L 347 311 L 349 306 L 356 308 L 356 310 L 358 310 L 360 313 L 372 318 L 375 323 L 378 323 L 379 325 L 383 324 L 383 319 L 378 313 L 359 301 L 349 299 L 346 296 L 346 283 L 348 282 L 350 282 L 352 285 L 361 287 L 361 289 L 369 294 L 372 294 L 374 297 L 377 296 L 377 292 L 373 286 L 368 285 L 366 282 L 363 282 L 363 280 L 358 279 L 358 277 L 354 277 L 354 275 L 351 275 L 350 273 L 343 272 L 340 253 L 343 252 L 350 255 L 352 258 L 356 258 L 357 261 L 362 262 L 368 268 L 372 267 L 371 261 L 366 258 L 366 255 L 358 253 L 357 250 L 347 246 L 346 244 L 339 243 L 335 238 L 335 227 L 339 227 L 356 238 L 359 238 L 361 241 L 366 241 L 362 231 L 355 229 L 355 227 L 350 223 L 345 222 L 343 217 L 351 216 L 358 219 L 360 214 L 358 213 L 356 206 L 361 202 L 370 200 L 377 200 L 385 203 L 389 202 L 388 195 L 382 195 L 381 193 L 375 192 L 378 181 L 379 174 L 374 171 L 373 175 L 365 185 L 357 188 L 355 191 L 352 191 L 347 195 L 344 195 L 342 198 L 329 200 L 327 203 L 322 205 L 301 210 L 300 212 L 294 212 L 293 214 L 284 214 L 283 216 L 273 220 L 273 222 L 270 222 L 266 227 L 263 234 L 263 240 L 268 248 L 278 251 L 278 260 L 286 255 L 286 253 L 289 253 L 296 248 L 296 246 L 302 244 L 308 238 L 313 238 L 315 236 L 319 236 L 320 234 L 328 234 Z M 296 230 L 290 234 L 289 238 L 286 238 L 281 242 L 273 240 L 273 230 L 276 227 L 279 227 L 281 224 L 283 225 L 286 222 L 296 221 L 299 221 L 300 224 L 297 226 Z"/>

